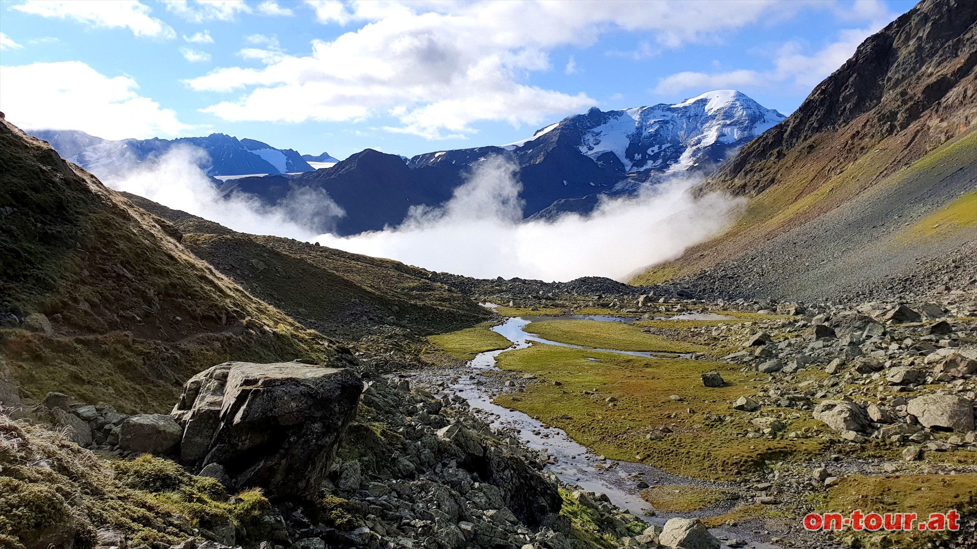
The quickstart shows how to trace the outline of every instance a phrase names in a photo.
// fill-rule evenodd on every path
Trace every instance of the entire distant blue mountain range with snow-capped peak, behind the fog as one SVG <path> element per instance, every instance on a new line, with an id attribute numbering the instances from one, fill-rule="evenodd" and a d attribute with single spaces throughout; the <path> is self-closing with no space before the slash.
<path id="1" fill-rule="evenodd" d="M 382 230 L 404 221 L 412 205 L 436 205 L 489 156 L 519 166 L 524 216 L 587 213 L 600 194 L 633 192 L 678 173 L 709 174 L 735 150 L 785 119 L 743 93 L 717 90 L 675 105 L 602 111 L 593 107 L 497 147 L 439 150 L 404 158 L 366 149 L 339 161 L 323 152 L 300 156 L 223 134 L 206 138 L 108 142 L 82 132 L 35 132 L 96 175 L 180 143 L 203 148 L 213 176 L 238 178 L 223 188 L 275 204 L 294 187 L 328 192 L 345 211 L 340 234 Z M 310 165 L 312 163 L 312 165 Z M 322 168 L 315 170 L 315 168 Z"/>

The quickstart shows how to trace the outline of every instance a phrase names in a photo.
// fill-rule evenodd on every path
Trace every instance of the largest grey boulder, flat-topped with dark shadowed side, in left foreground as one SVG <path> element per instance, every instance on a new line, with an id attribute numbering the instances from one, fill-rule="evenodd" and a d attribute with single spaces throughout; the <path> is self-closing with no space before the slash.
<path id="1" fill-rule="evenodd" d="M 314 499 L 362 393 L 347 368 L 225 362 L 193 376 L 173 409 L 181 460 L 216 463 L 232 486 Z"/>

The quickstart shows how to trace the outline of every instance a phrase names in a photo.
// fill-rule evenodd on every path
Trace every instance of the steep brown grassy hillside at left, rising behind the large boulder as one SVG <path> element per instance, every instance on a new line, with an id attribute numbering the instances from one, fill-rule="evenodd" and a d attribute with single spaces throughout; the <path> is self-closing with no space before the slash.
<path id="1" fill-rule="evenodd" d="M 0 375 L 22 397 L 166 411 L 222 361 L 352 360 L 6 121 L 0 173 Z"/>

